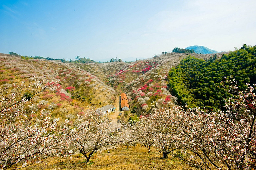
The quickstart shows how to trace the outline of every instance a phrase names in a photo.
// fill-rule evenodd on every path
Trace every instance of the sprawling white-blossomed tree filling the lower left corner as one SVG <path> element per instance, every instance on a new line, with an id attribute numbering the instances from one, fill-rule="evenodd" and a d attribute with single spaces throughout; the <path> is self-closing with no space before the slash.
<path id="1" fill-rule="evenodd" d="M 17 169 L 49 156 L 70 154 L 64 142 L 66 135 L 57 128 L 59 118 L 51 119 L 50 111 L 37 110 L 31 102 L 48 88 L 45 76 L 28 85 L 0 89 L 0 169 Z"/>

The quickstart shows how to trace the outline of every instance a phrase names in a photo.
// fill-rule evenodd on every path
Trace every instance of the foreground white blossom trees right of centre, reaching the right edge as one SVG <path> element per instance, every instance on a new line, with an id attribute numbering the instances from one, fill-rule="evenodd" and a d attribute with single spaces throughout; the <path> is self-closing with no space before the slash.
<path id="1" fill-rule="evenodd" d="M 236 83 L 222 83 L 233 94 L 225 111 L 157 103 L 154 113 L 131 129 L 149 151 L 153 145 L 164 158 L 177 156 L 198 169 L 255 169 L 255 84 L 240 91 Z"/>

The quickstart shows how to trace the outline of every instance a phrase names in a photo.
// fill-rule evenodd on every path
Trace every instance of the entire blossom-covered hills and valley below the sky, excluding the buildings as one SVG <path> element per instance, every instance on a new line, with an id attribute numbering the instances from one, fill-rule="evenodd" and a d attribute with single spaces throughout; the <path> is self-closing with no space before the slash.
<path id="1" fill-rule="evenodd" d="M 255 55 L 246 45 L 107 63 L 0 53 L 1 169 L 255 169 Z M 106 105 L 115 111 L 95 114 Z"/>

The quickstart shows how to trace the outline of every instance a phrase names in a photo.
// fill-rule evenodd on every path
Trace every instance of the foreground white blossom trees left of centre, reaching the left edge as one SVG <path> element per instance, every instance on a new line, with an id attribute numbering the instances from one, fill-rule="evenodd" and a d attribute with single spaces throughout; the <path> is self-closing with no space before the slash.
<path id="1" fill-rule="evenodd" d="M 68 157 L 77 150 L 89 162 L 97 150 L 120 142 L 120 130 L 92 109 L 72 123 L 52 118 L 51 106 L 39 110 L 33 96 L 54 85 L 45 76 L 0 89 L 0 169 L 20 169 L 47 157 Z"/>

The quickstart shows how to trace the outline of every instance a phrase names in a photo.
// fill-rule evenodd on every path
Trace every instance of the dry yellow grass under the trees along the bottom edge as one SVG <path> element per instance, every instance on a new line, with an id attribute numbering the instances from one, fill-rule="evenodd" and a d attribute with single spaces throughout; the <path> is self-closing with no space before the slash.
<path id="1" fill-rule="evenodd" d="M 109 153 L 108 153 L 109 151 Z M 50 158 L 44 162 L 31 165 L 24 170 L 188 170 L 194 169 L 179 158 L 162 159 L 160 152 L 148 153 L 144 147 L 121 147 L 116 150 L 105 150 L 94 154 L 86 163 L 82 154 L 73 158 Z"/>

